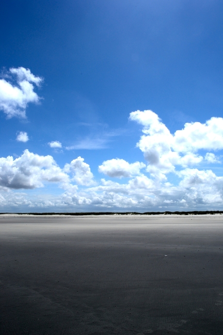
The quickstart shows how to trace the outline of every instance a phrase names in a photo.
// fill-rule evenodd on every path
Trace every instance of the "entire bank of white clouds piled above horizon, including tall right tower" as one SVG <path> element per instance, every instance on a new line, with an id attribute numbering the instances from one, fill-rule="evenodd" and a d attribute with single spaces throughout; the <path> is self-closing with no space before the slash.
<path id="1" fill-rule="evenodd" d="M 130 113 L 130 120 L 142 126 L 143 134 L 137 147 L 145 163 L 111 158 L 98 167 L 107 179 L 96 181 L 89 164 L 80 156 L 64 167 L 59 167 L 50 155 L 40 156 L 28 150 L 16 159 L 2 157 L 1 208 L 24 206 L 62 208 L 64 211 L 66 208 L 76 211 L 90 208 L 141 211 L 221 208 L 223 176 L 216 175 L 207 165 L 221 162 L 217 152 L 223 149 L 223 118 L 212 117 L 204 124 L 186 123 L 174 134 L 149 110 Z M 52 148 L 60 148 L 60 142 L 50 143 Z M 45 192 L 45 195 L 32 198 L 23 191 L 15 191 L 50 183 L 63 189 L 60 195 Z"/>

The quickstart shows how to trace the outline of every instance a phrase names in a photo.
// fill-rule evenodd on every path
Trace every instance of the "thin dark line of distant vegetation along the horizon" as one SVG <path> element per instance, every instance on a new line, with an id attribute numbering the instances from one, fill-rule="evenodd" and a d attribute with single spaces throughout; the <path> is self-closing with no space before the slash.
<path id="1" fill-rule="evenodd" d="M 190 212 L 81 212 L 81 213 L 0 213 L 0 214 L 28 214 L 28 215 L 159 215 L 159 214 L 177 214 L 177 215 L 204 215 L 204 214 L 223 214 L 223 211 L 190 211 Z"/>

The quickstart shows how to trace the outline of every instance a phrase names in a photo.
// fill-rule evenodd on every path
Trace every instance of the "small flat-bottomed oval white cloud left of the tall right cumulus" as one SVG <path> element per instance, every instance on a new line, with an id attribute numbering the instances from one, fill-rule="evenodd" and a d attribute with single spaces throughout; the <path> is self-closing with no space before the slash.
<path id="1" fill-rule="evenodd" d="M 110 177 L 122 178 L 137 175 L 142 168 L 145 168 L 144 163 L 135 162 L 129 164 L 124 159 L 116 158 L 104 161 L 102 165 L 98 167 L 98 171 Z"/>

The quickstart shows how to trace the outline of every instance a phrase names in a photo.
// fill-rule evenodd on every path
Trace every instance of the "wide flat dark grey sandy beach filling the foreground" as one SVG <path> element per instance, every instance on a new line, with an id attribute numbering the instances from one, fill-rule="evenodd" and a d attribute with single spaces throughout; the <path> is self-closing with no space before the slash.
<path id="1" fill-rule="evenodd" d="M 1 216 L 0 334 L 223 335 L 223 216 Z"/>

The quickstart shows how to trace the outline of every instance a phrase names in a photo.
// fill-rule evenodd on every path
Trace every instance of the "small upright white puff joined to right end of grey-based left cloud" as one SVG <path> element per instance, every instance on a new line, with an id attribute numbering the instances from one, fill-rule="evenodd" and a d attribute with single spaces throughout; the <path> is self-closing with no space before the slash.
<path id="1" fill-rule="evenodd" d="M 93 173 L 88 164 L 80 156 L 74 159 L 70 164 L 65 164 L 64 171 L 73 175 L 72 181 L 80 185 L 95 184 Z"/>

